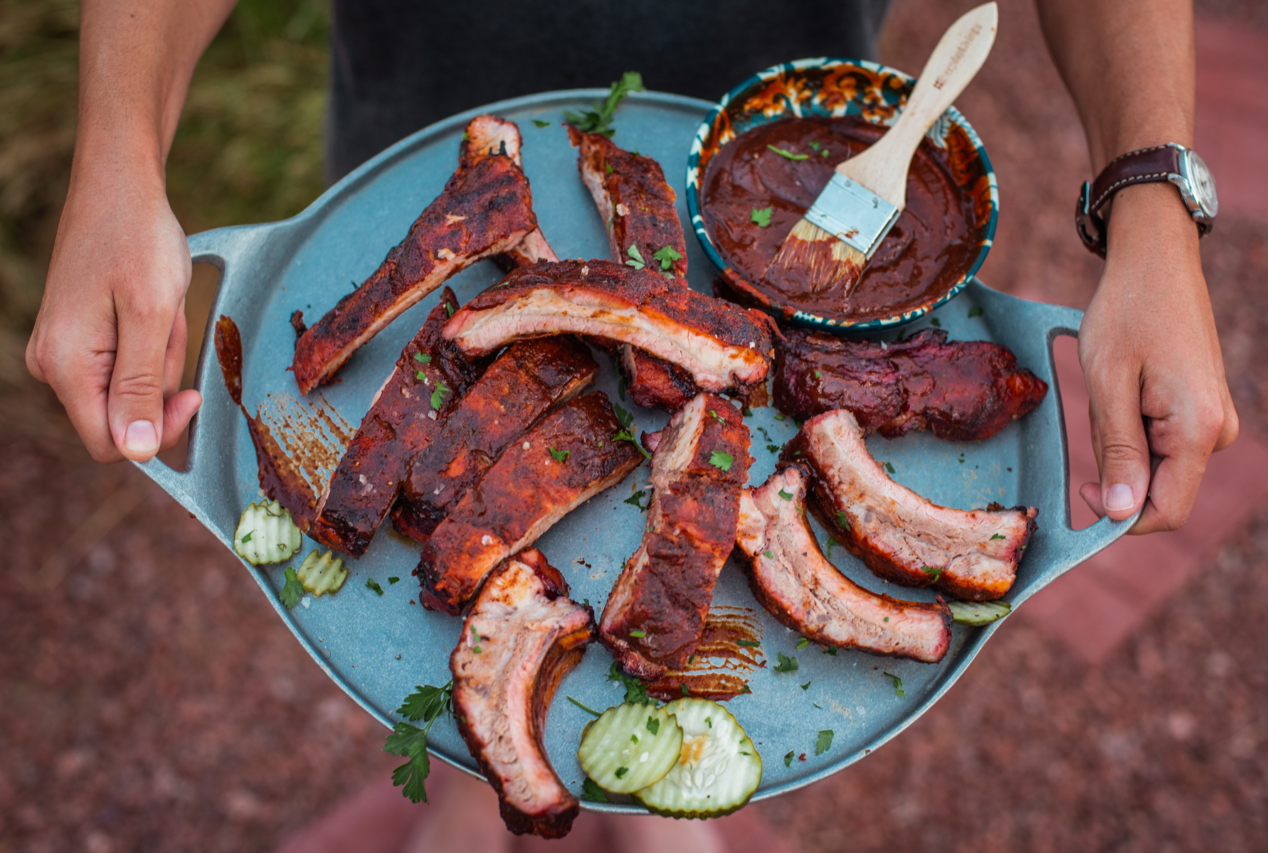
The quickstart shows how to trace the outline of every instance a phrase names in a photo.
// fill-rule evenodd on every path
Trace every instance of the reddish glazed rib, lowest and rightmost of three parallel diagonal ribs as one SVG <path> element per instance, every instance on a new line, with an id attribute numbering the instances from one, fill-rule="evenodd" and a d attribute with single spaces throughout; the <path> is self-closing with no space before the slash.
<path id="1" fill-rule="evenodd" d="M 498 563 L 638 468 L 638 447 L 612 440 L 620 428 L 596 392 L 519 436 L 424 544 L 413 570 L 424 606 L 462 612 Z"/>

